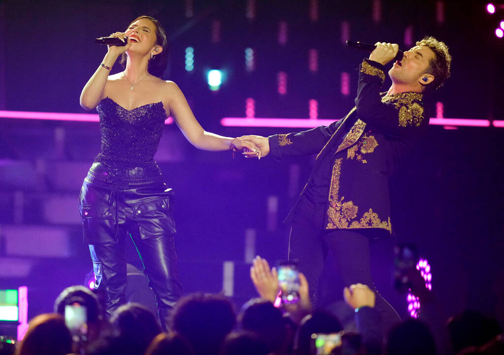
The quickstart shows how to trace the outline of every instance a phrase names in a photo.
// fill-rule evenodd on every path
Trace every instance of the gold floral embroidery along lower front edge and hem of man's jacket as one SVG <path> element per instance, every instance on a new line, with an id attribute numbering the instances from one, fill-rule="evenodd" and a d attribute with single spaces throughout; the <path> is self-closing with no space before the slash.
<path id="1" fill-rule="evenodd" d="M 392 232 L 390 217 L 388 221 L 382 221 L 371 208 L 362 215 L 359 221 L 352 221 L 357 218 L 359 207 L 353 201 L 344 202 L 344 196 L 341 198 L 338 196 L 342 161 L 343 158 L 337 159 L 333 166 L 331 185 L 329 186 L 329 208 L 327 210 L 329 223 L 326 229 L 383 228 Z"/>

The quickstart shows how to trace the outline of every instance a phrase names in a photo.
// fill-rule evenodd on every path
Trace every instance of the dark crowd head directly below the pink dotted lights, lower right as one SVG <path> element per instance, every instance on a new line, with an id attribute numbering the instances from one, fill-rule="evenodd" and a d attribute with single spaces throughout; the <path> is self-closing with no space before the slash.
<path id="1" fill-rule="evenodd" d="M 435 343 L 425 324 L 408 319 L 392 327 L 387 339 L 387 355 L 435 355 Z"/>

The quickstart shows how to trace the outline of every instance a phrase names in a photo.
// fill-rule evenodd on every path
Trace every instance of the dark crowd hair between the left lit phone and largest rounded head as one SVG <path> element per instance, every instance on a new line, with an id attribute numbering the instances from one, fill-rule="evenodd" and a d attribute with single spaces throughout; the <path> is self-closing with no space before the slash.
<path id="1" fill-rule="evenodd" d="M 110 317 L 118 337 L 136 353 L 144 353 L 152 339 L 161 333 L 156 316 L 146 307 L 130 303 L 120 306 Z"/>

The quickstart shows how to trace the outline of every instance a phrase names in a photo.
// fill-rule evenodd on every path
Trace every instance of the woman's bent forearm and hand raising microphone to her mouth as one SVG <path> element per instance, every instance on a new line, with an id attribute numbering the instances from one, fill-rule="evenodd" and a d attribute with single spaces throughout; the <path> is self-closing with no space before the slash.
<path id="1" fill-rule="evenodd" d="M 124 40 L 124 33 L 116 32 L 112 35 L 113 37 L 118 37 Z M 128 40 L 128 44 L 125 46 L 108 46 L 107 54 L 103 58 L 102 64 L 111 68 L 117 57 L 124 53 L 130 48 L 131 42 Z M 80 104 L 86 110 L 93 110 L 98 105 L 98 102 L 103 98 L 103 91 L 105 90 L 105 84 L 107 83 L 108 75 L 110 74 L 110 69 L 100 64 L 93 76 L 88 80 L 84 89 L 81 92 Z"/>

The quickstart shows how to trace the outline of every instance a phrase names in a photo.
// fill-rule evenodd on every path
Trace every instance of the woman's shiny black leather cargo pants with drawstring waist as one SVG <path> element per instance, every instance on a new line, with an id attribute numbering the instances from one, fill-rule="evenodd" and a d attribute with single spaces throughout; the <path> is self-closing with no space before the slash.
<path id="1" fill-rule="evenodd" d="M 105 291 L 109 315 L 128 302 L 124 243 L 131 238 L 154 291 L 161 326 L 166 330 L 170 311 L 181 295 L 173 193 L 159 179 L 126 179 L 123 175 L 111 181 L 92 170 L 84 180 L 79 207 L 84 242 L 89 244 L 96 275 L 95 290 Z"/>

